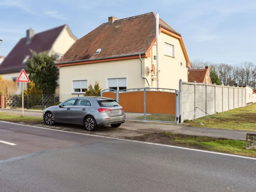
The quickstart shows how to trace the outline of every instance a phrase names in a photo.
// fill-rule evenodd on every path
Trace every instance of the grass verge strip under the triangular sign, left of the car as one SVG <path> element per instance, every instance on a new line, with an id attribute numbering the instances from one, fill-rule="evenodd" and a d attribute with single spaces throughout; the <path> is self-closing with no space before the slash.
<path id="1" fill-rule="evenodd" d="M 9 122 L 23 122 L 23 123 L 44 123 L 43 117 L 28 117 L 28 116 L 19 116 L 12 115 L 7 113 L 0 113 L 1 121 Z"/>

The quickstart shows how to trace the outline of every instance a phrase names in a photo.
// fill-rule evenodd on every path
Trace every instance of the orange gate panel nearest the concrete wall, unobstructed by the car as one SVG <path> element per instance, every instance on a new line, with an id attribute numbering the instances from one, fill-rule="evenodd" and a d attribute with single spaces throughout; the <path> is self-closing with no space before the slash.
<path id="1" fill-rule="evenodd" d="M 146 113 L 175 115 L 175 93 L 147 92 Z"/>

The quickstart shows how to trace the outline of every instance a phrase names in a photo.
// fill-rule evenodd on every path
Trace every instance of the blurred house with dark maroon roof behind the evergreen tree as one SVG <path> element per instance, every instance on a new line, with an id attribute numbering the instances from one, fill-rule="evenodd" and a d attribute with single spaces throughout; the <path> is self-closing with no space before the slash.
<path id="1" fill-rule="evenodd" d="M 55 54 L 60 59 L 76 40 L 77 38 L 71 33 L 68 25 L 62 25 L 36 34 L 30 28 L 26 31 L 26 37 L 20 39 L 0 65 L 0 75 L 3 79 L 16 82 L 20 71 L 27 69 L 26 61 L 31 56 L 30 50 L 36 53 L 47 51 L 49 54 Z M 19 82 L 17 82 L 17 87 L 16 94 L 20 94 L 21 84 Z M 26 88 L 27 84 L 24 85 L 24 89 Z M 56 94 L 58 92 L 59 88 L 56 89 Z"/>

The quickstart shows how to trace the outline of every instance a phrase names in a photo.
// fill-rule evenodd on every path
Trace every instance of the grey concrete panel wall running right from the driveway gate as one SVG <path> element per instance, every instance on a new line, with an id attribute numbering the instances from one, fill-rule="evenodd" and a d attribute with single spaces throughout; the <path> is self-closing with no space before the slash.
<path id="1" fill-rule="evenodd" d="M 246 90 L 202 83 L 180 82 L 181 121 L 244 107 Z M 256 96 L 256 94 L 255 94 Z M 256 102 L 256 99 L 255 99 Z M 196 111 L 196 113 L 195 113 Z M 207 113 L 207 114 L 206 114 Z"/>

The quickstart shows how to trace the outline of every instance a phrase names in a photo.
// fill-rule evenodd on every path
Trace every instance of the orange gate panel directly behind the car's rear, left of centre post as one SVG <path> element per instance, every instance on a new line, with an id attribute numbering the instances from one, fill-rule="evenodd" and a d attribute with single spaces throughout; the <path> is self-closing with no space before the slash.
<path id="1" fill-rule="evenodd" d="M 144 92 L 119 93 L 119 104 L 125 112 L 144 113 Z"/>

